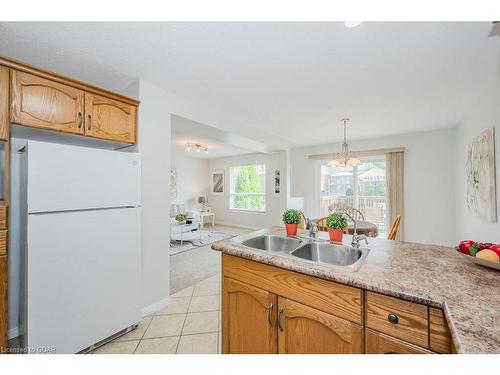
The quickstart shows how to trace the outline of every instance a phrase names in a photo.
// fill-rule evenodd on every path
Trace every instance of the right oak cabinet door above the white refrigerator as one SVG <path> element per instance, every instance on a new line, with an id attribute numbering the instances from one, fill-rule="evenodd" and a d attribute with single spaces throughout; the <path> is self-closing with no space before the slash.
<path id="1" fill-rule="evenodd" d="M 85 134 L 135 143 L 136 111 L 133 105 L 85 93 Z"/>

